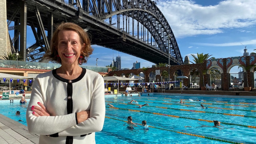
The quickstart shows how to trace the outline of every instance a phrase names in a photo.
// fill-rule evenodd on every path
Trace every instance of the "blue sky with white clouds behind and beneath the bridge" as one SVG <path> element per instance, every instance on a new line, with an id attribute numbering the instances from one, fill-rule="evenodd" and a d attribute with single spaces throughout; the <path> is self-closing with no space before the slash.
<path id="1" fill-rule="evenodd" d="M 167 19 L 178 43 L 181 56 L 204 53 L 215 58 L 243 56 L 256 52 L 255 0 L 159 0 L 157 7 Z M 32 45 L 33 42 L 27 46 Z M 105 67 L 113 57 L 121 56 L 121 68 L 132 68 L 136 61 L 140 67 L 154 63 L 125 53 L 92 45 L 93 54 L 87 66 Z"/>

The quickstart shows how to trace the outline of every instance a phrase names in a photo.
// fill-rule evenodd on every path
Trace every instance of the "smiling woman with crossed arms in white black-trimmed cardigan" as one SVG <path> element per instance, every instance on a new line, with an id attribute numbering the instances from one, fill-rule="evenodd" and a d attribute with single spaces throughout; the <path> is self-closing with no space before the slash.
<path id="1" fill-rule="evenodd" d="M 26 120 L 39 144 L 95 143 L 105 118 L 104 80 L 81 68 L 93 49 L 87 33 L 73 23 L 56 27 L 45 58 L 60 68 L 38 75 Z"/>

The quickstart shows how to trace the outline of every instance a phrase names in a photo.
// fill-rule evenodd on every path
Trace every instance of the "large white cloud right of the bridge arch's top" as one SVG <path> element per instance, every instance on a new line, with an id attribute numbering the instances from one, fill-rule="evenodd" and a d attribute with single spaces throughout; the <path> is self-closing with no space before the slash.
<path id="1" fill-rule="evenodd" d="M 202 6 L 189 0 L 160 1 L 175 37 L 218 34 L 225 29 L 256 24 L 255 0 L 226 0 L 214 6 Z"/>

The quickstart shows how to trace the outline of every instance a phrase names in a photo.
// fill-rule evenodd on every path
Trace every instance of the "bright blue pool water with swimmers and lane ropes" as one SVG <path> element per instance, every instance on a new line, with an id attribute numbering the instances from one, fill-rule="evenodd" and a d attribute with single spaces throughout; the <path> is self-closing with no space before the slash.
<path id="1" fill-rule="evenodd" d="M 132 99 L 138 102 L 128 104 Z M 185 103 L 180 104 L 180 99 L 186 99 Z M 204 99 L 206 102 L 189 99 Z M 96 133 L 98 144 L 256 143 L 255 99 L 151 94 L 140 97 L 108 95 L 105 101 L 116 108 L 106 106 L 103 129 Z M 0 113 L 15 121 L 21 119 L 26 125 L 27 104 L 18 102 L 0 101 Z M 149 106 L 138 108 L 145 103 Z M 200 104 L 208 109 L 201 108 Z M 21 115 L 15 115 L 17 110 Z M 128 116 L 137 123 L 133 130 L 127 129 Z M 147 121 L 149 130 L 140 125 L 143 120 Z M 214 127 L 213 120 L 220 121 L 224 127 Z"/>

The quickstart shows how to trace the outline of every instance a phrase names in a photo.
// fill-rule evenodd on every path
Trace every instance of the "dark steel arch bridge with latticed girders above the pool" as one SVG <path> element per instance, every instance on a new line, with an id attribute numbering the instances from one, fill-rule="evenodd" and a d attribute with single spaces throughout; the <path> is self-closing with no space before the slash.
<path id="1" fill-rule="evenodd" d="M 20 19 L 21 14 L 15 9 L 20 6 L 19 1 L 7 0 L 7 20 L 12 18 L 13 21 L 17 21 Z M 37 28 L 37 33 L 33 31 L 37 42 L 28 47 L 31 48 L 29 50 L 31 55 L 34 54 L 36 57 L 33 59 L 34 61 L 40 61 L 38 57 L 47 50 L 47 47 L 45 48 L 47 46 L 45 45 L 47 43 L 45 42 L 46 37 L 41 39 L 43 34 L 39 30 L 53 29 L 49 24 L 49 15 L 52 15 L 53 23 L 73 22 L 83 29 L 89 29 L 87 32 L 91 35 L 91 44 L 118 50 L 156 64 L 159 62 L 168 63 L 168 55 L 170 54 L 171 65 L 183 64 L 176 39 L 167 20 L 154 2 L 150 0 L 83 0 L 83 8 L 79 0 L 76 0 L 76 3 L 72 0 L 69 1 L 70 3 L 62 0 L 24 1 L 27 3 L 27 25 Z M 76 6 L 76 4 L 78 5 Z M 36 15 L 36 8 L 40 15 Z M 123 15 L 123 21 L 126 18 L 126 23 L 128 17 L 143 25 L 143 30 L 137 31 L 137 38 L 134 33 L 129 34 L 129 30 L 120 29 L 120 20 L 119 23 L 117 22 L 119 27 L 113 26 L 111 19 L 115 16 L 118 17 L 118 15 Z M 36 19 L 39 18 L 41 21 L 36 23 L 38 21 Z M 106 19 L 109 19 L 110 22 L 105 22 Z M 10 29 L 13 28 L 17 29 L 18 27 L 15 26 Z M 151 38 L 146 39 L 146 34 L 144 35 L 146 29 L 147 33 L 151 34 Z M 141 35 L 143 40 L 139 38 L 139 33 L 143 33 L 143 36 Z M 50 37 L 47 36 L 47 39 L 49 41 Z M 151 43 L 149 39 L 151 39 Z M 44 51 L 42 52 L 42 50 Z"/>

